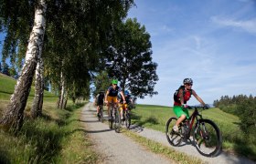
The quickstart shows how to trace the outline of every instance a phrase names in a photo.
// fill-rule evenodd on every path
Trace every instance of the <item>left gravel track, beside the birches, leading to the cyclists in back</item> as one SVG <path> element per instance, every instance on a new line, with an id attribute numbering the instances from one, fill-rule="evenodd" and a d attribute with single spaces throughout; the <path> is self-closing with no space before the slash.
<path id="1" fill-rule="evenodd" d="M 92 103 L 87 104 L 83 108 L 81 121 L 85 123 L 85 130 L 92 138 L 94 148 L 103 157 L 101 163 L 173 163 L 169 159 L 147 151 L 122 133 L 111 130 L 107 124 L 98 121 L 95 112 L 96 109 L 92 106 Z"/>

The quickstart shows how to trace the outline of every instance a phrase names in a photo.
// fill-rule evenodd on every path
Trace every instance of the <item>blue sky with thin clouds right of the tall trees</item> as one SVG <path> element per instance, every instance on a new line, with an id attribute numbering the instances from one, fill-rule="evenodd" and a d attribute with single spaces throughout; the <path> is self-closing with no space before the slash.
<path id="1" fill-rule="evenodd" d="M 158 95 L 140 104 L 173 106 L 185 77 L 206 103 L 256 92 L 256 1 L 135 0 L 136 17 L 151 35 Z M 195 97 L 187 104 L 198 104 Z"/>

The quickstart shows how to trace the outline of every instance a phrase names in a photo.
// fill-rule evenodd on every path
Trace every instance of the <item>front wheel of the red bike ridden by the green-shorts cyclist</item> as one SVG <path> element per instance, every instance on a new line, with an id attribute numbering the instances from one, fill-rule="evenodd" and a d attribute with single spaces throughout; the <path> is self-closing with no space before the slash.
<path id="1" fill-rule="evenodd" d="M 209 119 L 199 119 L 193 132 L 197 151 L 206 157 L 215 157 L 222 147 L 222 138 L 217 125 Z"/>

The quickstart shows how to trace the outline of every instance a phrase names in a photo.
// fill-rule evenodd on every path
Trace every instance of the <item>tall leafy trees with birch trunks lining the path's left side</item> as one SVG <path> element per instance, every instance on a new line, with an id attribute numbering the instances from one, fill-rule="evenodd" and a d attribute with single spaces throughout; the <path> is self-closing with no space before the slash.
<path id="1" fill-rule="evenodd" d="M 117 77 L 135 97 L 156 94 L 150 36 L 135 19 L 124 21 L 131 6 L 133 0 L 0 0 L 3 61 L 9 57 L 20 72 L 1 125 L 22 127 L 33 78 L 33 118 L 42 114 L 45 78 L 59 92 L 59 108 L 68 97 L 88 98 L 101 74 Z"/>

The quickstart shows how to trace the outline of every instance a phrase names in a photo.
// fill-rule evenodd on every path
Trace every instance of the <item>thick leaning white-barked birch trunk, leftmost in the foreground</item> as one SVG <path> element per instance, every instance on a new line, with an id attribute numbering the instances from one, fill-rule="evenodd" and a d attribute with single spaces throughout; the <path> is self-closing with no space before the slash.
<path id="1" fill-rule="evenodd" d="M 4 117 L 0 120 L 2 126 L 12 128 L 15 132 L 23 125 L 24 110 L 27 105 L 27 97 L 31 88 L 33 76 L 37 67 L 37 59 L 42 49 L 45 28 L 46 28 L 45 0 L 39 0 L 35 11 L 35 21 L 27 46 L 26 62 L 22 68 L 21 76 L 18 78 L 14 94 L 10 104 L 5 111 Z"/>

